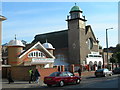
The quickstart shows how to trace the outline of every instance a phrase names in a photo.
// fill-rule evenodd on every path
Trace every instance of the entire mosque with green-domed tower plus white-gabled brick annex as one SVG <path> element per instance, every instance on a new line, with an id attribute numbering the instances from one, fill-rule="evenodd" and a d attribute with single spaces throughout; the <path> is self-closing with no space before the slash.
<path id="1" fill-rule="evenodd" d="M 92 27 L 86 25 L 87 20 L 82 15 L 83 11 L 75 5 L 69 13 L 66 20 L 67 30 L 38 34 L 30 44 L 26 45 L 15 37 L 6 45 L 7 64 L 11 65 L 14 78 L 23 75 L 16 73 L 16 70 L 22 72 L 31 66 L 53 68 L 64 65 L 65 70 L 69 70 L 69 65 L 72 64 L 88 70 L 92 70 L 95 66 L 102 67 L 99 41 Z M 5 73 L 6 68 L 3 71 Z M 24 78 L 26 79 L 25 74 Z"/>

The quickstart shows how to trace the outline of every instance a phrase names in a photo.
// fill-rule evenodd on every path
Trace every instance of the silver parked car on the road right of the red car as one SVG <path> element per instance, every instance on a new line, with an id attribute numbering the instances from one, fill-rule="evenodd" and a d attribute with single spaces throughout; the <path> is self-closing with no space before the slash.
<path id="1" fill-rule="evenodd" d="M 95 71 L 95 76 L 98 77 L 98 76 L 112 76 L 112 71 L 109 71 L 108 69 L 104 68 L 104 69 L 98 69 Z"/>

